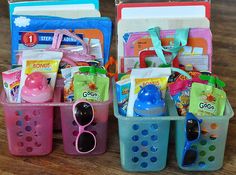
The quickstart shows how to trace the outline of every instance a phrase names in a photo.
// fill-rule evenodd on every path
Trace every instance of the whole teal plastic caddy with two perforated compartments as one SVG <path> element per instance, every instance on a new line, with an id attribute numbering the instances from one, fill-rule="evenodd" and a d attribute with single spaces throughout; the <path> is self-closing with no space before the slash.
<path id="1" fill-rule="evenodd" d="M 114 115 L 119 124 L 120 159 L 124 170 L 153 172 L 161 171 L 166 167 L 171 121 L 175 123 L 176 159 L 181 169 L 216 171 L 223 166 L 228 124 L 234 116 L 228 100 L 224 116 L 201 117 L 203 120 L 201 138 L 193 145 L 197 147 L 198 159 L 195 164 L 183 167 L 185 117 L 178 116 L 169 94 L 165 99 L 168 116 L 125 117 L 118 112 L 115 86 L 113 88 Z"/>

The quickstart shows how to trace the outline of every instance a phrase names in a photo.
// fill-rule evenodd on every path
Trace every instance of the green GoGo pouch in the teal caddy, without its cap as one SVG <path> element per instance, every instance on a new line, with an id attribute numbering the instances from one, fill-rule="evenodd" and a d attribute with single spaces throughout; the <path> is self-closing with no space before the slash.
<path id="1" fill-rule="evenodd" d="M 196 116 L 223 116 L 226 93 L 212 85 L 193 83 L 189 112 Z"/>

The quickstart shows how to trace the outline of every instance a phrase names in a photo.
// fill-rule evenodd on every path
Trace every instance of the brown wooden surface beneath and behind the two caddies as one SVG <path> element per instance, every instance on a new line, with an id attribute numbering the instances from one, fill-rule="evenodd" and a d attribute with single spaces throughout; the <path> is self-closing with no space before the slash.
<path id="1" fill-rule="evenodd" d="M 101 0 L 103 16 L 110 16 L 115 21 L 113 0 Z M 0 0 L 0 70 L 6 70 L 10 64 L 10 32 L 8 7 L 6 0 Z M 236 109 L 236 4 L 235 0 L 212 2 L 213 32 L 213 71 L 227 83 L 226 91 L 233 109 Z M 112 42 L 112 55 L 116 55 L 115 35 Z M 2 82 L 2 81 L 1 81 Z M 108 150 L 95 157 L 69 156 L 63 152 L 60 132 L 54 133 L 53 152 L 45 157 L 14 157 L 9 154 L 3 111 L 0 109 L 0 174 L 129 174 L 120 165 L 117 120 L 110 111 Z M 214 174 L 236 174 L 236 119 L 230 121 L 224 167 Z M 156 173 L 150 173 L 156 174 Z M 169 147 L 167 167 L 160 174 L 189 174 L 177 167 L 174 145 Z M 212 174 L 212 173 L 194 173 Z"/>

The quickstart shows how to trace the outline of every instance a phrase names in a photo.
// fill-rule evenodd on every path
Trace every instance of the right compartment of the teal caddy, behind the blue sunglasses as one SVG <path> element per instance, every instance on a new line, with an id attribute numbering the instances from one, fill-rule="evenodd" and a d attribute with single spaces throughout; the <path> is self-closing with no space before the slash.
<path id="1" fill-rule="evenodd" d="M 187 171 L 215 171 L 224 163 L 225 145 L 229 120 L 234 116 L 232 107 L 227 101 L 224 116 L 201 117 L 201 137 L 193 147 L 197 147 L 198 158 L 190 167 L 182 166 L 182 157 L 185 144 L 185 118 L 176 121 L 176 156 L 178 166 Z"/>

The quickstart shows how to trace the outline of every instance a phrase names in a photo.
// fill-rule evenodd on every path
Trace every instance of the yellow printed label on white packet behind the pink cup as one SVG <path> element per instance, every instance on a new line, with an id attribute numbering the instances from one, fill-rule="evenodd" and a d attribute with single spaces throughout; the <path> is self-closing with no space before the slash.
<path id="1" fill-rule="evenodd" d="M 54 73 L 57 72 L 58 65 L 57 60 L 28 60 L 26 62 L 25 70 L 26 74 L 31 74 L 33 72 L 44 72 L 44 73 Z"/>

